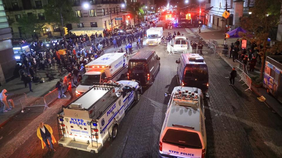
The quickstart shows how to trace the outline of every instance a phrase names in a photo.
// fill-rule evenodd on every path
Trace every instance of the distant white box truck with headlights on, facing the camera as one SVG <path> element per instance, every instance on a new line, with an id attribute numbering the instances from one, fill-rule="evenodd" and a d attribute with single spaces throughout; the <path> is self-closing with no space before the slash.
<path id="1" fill-rule="evenodd" d="M 159 45 L 163 36 L 162 28 L 149 28 L 147 30 L 147 45 Z"/>

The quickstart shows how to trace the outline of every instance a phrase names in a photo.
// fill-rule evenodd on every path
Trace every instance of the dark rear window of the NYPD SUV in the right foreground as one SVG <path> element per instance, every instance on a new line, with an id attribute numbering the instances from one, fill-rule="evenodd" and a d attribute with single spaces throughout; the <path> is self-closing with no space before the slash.
<path id="1" fill-rule="evenodd" d="M 164 143 L 178 147 L 202 149 L 202 142 L 198 133 L 183 130 L 168 129 L 162 138 Z"/>

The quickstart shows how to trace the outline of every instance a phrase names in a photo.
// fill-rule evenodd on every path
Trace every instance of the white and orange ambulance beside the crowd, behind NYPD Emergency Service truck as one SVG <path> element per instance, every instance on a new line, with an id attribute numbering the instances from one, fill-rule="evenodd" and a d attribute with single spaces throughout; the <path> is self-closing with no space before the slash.
<path id="1" fill-rule="evenodd" d="M 85 65 L 86 73 L 76 87 L 77 96 L 89 90 L 93 83 L 109 83 L 125 78 L 128 63 L 125 53 L 107 53 Z"/>

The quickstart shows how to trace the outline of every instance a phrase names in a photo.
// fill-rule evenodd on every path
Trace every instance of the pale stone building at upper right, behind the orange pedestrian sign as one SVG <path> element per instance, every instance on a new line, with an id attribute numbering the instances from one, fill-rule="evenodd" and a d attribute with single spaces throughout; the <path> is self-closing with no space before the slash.
<path id="1" fill-rule="evenodd" d="M 230 13 L 230 17 L 226 20 L 222 14 L 226 10 Z M 209 12 L 205 15 L 205 25 L 216 30 L 225 30 L 226 25 L 231 26 L 231 30 L 239 27 L 239 18 L 248 15 L 249 7 L 254 6 L 255 0 L 206 0 L 205 8 L 210 8 Z"/>

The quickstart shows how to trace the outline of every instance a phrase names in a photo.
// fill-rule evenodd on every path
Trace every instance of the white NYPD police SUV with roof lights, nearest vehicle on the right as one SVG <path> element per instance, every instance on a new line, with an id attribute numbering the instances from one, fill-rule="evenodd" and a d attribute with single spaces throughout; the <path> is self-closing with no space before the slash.
<path id="1" fill-rule="evenodd" d="M 204 158 L 207 135 L 202 91 L 193 87 L 174 87 L 165 114 L 159 157 Z"/>

